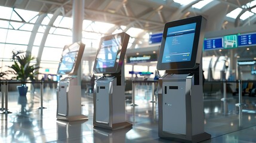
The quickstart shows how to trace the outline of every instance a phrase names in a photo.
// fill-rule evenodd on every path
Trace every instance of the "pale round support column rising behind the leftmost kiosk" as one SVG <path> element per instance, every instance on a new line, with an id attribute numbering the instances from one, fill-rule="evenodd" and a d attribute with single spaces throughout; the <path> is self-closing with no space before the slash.
<path id="1" fill-rule="evenodd" d="M 73 28 L 72 28 L 72 42 L 82 41 L 82 25 L 84 20 L 84 0 L 76 1 L 73 0 Z M 81 65 L 78 69 L 78 85 L 81 85 Z"/>

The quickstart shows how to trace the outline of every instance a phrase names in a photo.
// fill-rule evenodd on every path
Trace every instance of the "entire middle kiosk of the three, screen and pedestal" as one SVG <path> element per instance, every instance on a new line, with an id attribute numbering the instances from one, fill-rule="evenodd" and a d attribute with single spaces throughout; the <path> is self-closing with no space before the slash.
<path id="1" fill-rule="evenodd" d="M 101 38 L 94 73 L 101 73 L 94 84 L 93 125 L 106 129 L 131 127 L 125 122 L 124 57 L 129 35 L 119 33 Z"/>

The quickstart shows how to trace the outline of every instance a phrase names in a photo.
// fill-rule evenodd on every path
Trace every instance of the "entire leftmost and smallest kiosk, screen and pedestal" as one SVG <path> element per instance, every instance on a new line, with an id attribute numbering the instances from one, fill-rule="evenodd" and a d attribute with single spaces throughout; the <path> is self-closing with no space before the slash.
<path id="1" fill-rule="evenodd" d="M 57 119 L 67 121 L 88 119 L 81 114 L 81 85 L 78 85 L 77 79 L 84 48 L 85 45 L 81 42 L 63 48 L 57 73 L 68 76 L 58 82 Z"/>

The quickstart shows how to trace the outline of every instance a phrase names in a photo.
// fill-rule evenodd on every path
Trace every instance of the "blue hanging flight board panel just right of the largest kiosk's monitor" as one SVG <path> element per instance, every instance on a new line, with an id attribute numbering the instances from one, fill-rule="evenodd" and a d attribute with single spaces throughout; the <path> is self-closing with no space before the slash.
<path id="1" fill-rule="evenodd" d="M 223 38 L 205 39 L 203 41 L 203 50 L 223 48 Z"/>

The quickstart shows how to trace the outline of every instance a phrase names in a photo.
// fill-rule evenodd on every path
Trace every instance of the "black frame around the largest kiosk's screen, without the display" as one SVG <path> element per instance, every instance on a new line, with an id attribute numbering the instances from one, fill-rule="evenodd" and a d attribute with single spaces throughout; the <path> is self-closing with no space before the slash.
<path id="1" fill-rule="evenodd" d="M 159 49 L 159 57 L 158 57 L 158 64 L 157 64 L 158 70 L 196 69 L 196 67 L 198 67 L 198 64 L 200 63 L 199 58 L 201 58 L 201 53 L 202 53 L 202 45 L 199 45 L 199 41 L 200 43 L 203 41 L 203 37 L 201 36 L 202 20 L 203 20 L 202 16 L 197 16 L 197 17 L 186 18 L 183 20 L 171 21 L 165 24 L 161 47 Z M 192 24 L 192 23 L 196 23 L 196 29 L 195 29 L 195 36 L 194 36 L 190 61 L 162 63 L 168 29 L 171 27 L 182 26 L 182 25 Z M 199 52 L 198 50 L 201 50 L 201 51 Z"/>

